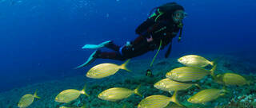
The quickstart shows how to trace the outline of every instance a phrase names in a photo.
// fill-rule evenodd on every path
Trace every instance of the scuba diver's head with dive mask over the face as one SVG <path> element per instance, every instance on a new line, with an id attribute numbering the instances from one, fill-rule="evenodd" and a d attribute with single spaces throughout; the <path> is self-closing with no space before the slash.
<path id="1" fill-rule="evenodd" d="M 187 13 L 184 12 L 184 10 L 176 10 L 172 14 L 174 23 L 178 24 L 181 23 L 182 20 L 187 16 Z"/>

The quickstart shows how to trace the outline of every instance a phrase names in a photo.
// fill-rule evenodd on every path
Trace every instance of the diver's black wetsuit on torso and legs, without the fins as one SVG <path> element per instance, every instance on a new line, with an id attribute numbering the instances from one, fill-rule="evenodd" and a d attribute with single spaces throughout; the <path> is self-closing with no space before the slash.
<path id="1" fill-rule="evenodd" d="M 147 19 L 151 20 L 151 19 Z M 146 22 L 146 21 L 145 21 Z M 146 32 L 138 33 L 134 41 L 131 41 L 131 46 L 118 46 L 113 42 L 106 44 L 106 48 L 113 49 L 115 52 L 96 52 L 95 58 L 111 59 L 111 60 L 127 60 L 135 56 L 157 49 L 162 40 L 162 48 L 170 44 L 172 39 L 176 36 L 180 28 L 174 21 L 162 19 L 162 21 L 154 22 L 154 25 L 146 28 Z M 153 40 L 147 42 L 147 38 L 153 37 Z M 161 49 L 162 49 L 161 48 Z"/>

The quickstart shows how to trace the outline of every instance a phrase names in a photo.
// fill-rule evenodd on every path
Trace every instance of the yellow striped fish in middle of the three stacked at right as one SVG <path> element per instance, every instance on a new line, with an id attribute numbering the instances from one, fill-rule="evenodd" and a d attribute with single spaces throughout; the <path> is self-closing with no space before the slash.
<path id="1" fill-rule="evenodd" d="M 173 70 L 166 73 L 168 79 L 172 79 L 178 82 L 190 82 L 194 80 L 199 80 L 206 75 L 213 75 L 216 69 L 216 65 L 211 70 L 206 70 L 197 67 L 182 67 L 174 68 Z"/>

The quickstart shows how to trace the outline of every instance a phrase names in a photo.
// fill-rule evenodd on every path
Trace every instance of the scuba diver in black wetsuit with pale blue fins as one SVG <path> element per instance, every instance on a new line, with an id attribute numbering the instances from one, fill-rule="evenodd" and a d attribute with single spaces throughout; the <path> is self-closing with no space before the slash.
<path id="1" fill-rule="evenodd" d="M 127 41 L 125 45 L 118 46 L 113 41 L 108 40 L 102 44 L 86 44 L 82 48 L 110 48 L 114 52 L 102 52 L 97 49 L 93 52 L 86 63 L 78 66 L 82 68 L 87 64 L 94 62 L 96 59 L 111 59 L 111 60 L 127 60 L 135 56 L 141 56 L 154 49 L 163 49 L 170 44 L 166 52 L 166 57 L 169 56 L 171 50 L 172 39 L 178 34 L 178 41 L 182 36 L 182 20 L 187 14 L 184 8 L 175 2 L 166 3 L 162 6 L 154 8 L 154 13 L 146 19 L 135 30 L 139 36 L 133 41 Z"/>

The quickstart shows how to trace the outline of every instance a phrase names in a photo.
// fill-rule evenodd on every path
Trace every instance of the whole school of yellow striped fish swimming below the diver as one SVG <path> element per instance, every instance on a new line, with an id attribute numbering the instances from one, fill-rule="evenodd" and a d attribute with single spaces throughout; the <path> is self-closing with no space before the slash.
<path id="1" fill-rule="evenodd" d="M 86 76 L 91 79 L 102 79 L 106 78 L 110 75 L 114 75 L 118 70 L 123 69 L 126 71 L 130 71 L 126 68 L 126 64 L 128 64 L 130 60 L 127 60 L 122 65 L 117 64 L 98 64 L 86 73 Z M 170 107 L 186 107 L 183 106 L 180 102 L 178 102 L 178 91 L 186 91 L 192 86 L 197 86 L 202 89 L 195 95 L 191 96 L 187 99 L 187 102 L 191 103 L 201 103 L 205 104 L 206 102 L 214 101 L 214 99 L 219 98 L 222 95 L 226 95 L 229 91 L 226 91 L 226 86 L 242 86 L 242 85 L 250 85 L 249 81 L 247 81 L 242 75 L 238 75 L 232 72 L 227 72 L 223 74 L 214 75 L 214 71 L 217 68 L 217 64 L 215 61 L 206 60 L 206 58 L 197 55 L 187 55 L 182 56 L 178 59 L 178 62 L 185 65 L 181 68 L 174 68 L 173 70 L 166 72 L 166 79 L 162 79 L 157 83 L 154 83 L 154 87 L 167 92 L 174 92 L 172 97 L 167 97 L 165 95 L 150 95 L 146 98 L 143 98 L 141 102 L 138 103 L 138 108 L 164 108 L 168 105 Z M 206 70 L 205 67 L 211 65 L 210 70 Z M 222 89 L 210 88 L 204 89 L 196 83 L 198 80 L 204 78 L 206 75 L 212 76 L 214 82 L 222 84 Z M 134 90 L 130 90 L 128 88 L 123 87 L 113 87 L 109 88 L 105 91 L 102 91 L 98 98 L 110 102 L 116 102 L 118 100 L 122 100 L 124 98 L 129 98 L 130 95 L 139 95 L 143 97 L 138 89 L 141 87 L 139 85 Z M 86 93 L 86 86 L 82 89 L 82 91 L 78 91 L 75 89 L 68 89 L 60 92 L 56 98 L 55 102 L 63 102 L 68 103 L 77 99 L 80 95 L 89 95 Z M 25 108 L 30 106 L 32 102 L 34 102 L 34 98 L 39 98 L 37 95 L 37 91 L 35 91 L 34 95 L 24 95 L 18 102 L 18 107 Z M 170 104 L 170 102 L 173 102 Z M 125 108 L 126 105 L 123 106 Z M 68 108 L 66 106 L 60 106 L 60 108 Z M 83 105 L 81 108 L 86 108 L 86 105 Z"/>

